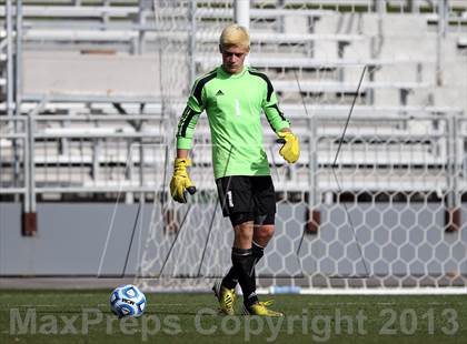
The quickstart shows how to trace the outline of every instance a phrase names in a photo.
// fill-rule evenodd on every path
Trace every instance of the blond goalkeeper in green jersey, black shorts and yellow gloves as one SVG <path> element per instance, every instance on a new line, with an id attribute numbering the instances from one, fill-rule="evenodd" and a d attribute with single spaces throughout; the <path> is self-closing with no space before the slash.
<path id="1" fill-rule="evenodd" d="M 220 311 L 234 314 L 235 287 L 244 293 L 244 313 L 282 316 L 259 302 L 255 265 L 275 232 L 276 198 L 269 163 L 262 146 L 261 109 L 284 143 L 279 153 L 294 163 L 299 156 L 297 136 L 278 108 L 268 77 L 244 65 L 249 53 L 247 29 L 231 24 L 222 30 L 219 51 L 222 64 L 200 77 L 193 84 L 177 131 L 177 159 L 170 193 L 175 201 L 187 202 L 195 185 L 188 176 L 188 158 L 195 125 L 202 111 L 208 115 L 212 141 L 212 164 L 222 214 L 229 216 L 235 240 L 232 266 L 213 291 Z"/>

